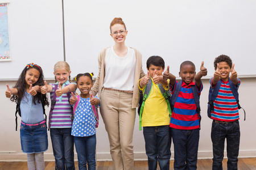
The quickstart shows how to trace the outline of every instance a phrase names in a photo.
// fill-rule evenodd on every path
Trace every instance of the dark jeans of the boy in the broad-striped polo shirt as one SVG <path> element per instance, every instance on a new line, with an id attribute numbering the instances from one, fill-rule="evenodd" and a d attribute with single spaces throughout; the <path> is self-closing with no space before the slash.
<path id="1" fill-rule="evenodd" d="M 199 129 L 171 128 L 170 135 L 174 142 L 174 169 L 196 169 Z"/>

